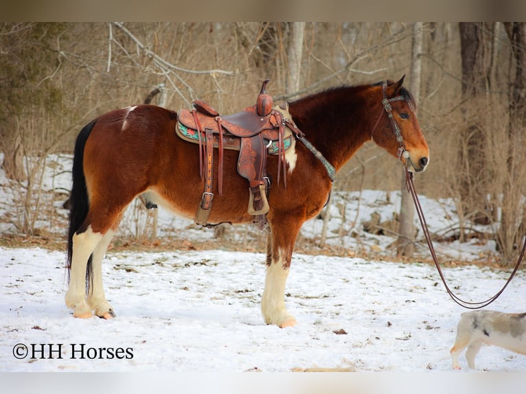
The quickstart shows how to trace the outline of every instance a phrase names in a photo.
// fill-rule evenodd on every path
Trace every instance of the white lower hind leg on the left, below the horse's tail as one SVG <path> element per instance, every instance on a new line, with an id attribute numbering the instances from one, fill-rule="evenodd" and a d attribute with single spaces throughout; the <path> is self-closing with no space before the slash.
<path id="1" fill-rule="evenodd" d="M 86 302 L 86 268 L 89 256 L 100 240 L 102 234 L 93 233 L 91 226 L 84 233 L 73 235 L 69 288 L 65 296 L 66 305 L 73 309 L 73 316 L 91 316 L 91 308 Z"/>

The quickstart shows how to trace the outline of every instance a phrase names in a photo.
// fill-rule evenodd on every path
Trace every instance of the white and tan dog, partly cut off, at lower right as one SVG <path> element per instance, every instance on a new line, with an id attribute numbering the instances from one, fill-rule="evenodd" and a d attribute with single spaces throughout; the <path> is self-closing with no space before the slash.
<path id="1" fill-rule="evenodd" d="M 450 351 L 453 368 L 461 369 L 459 354 L 467 347 L 468 366 L 474 369 L 475 356 L 483 344 L 526 355 L 526 313 L 491 310 L 463 313 L 457 326 L 455 345 Z"/>

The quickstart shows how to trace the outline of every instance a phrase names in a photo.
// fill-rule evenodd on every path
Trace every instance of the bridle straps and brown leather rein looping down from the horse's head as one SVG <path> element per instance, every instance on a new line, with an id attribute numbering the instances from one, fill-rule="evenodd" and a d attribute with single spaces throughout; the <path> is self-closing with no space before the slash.
<path id="1" fill-rule="evenodd" d="M 376 124 L 375 124 L 373 130 L 371 131 L 371 138 L 373 137 L 373 132 L 374 132 L 374 130 L 376 130 L 376 126 L 378 126 L 380 118 L 382 117 L 382 114 L 385 111 L 387 113 L 387 117 L 389 117 L 389 121 L 391 123 L 391 129 L 393 130 L 393 134 L 396 137 L 396 141 L 398 141 L 398 144 L 400 145 L 400 147 L 398 148 L 398 152 L 397 152 L 398 160 L 400 160 L 402 162 L 402 157 L 404 157 L 404 159 L 406 159 L 406 162 L 405 163 L 402 162 L 402 165 L 404 166 L 404 171 L 405 171 L 405 176 L 406 176 L 407 191 L 409 193 L 411 193 L 411 197 L 413 198 L 413 202 L 415 203 L 415 209 L 416 209 L 416 211 L 418 213 L 418 220 L 420 220 L 420 225 L 422 226 L 422 231 L 424 232 L 424 237 L 426 238 L 427 246 L 428 246 L 429 251 L 431 253 L 431 257 L 433 257 L 433 262 L 435 263 L 435 267 L 437 268 L 437 271 L 438 271 L 438 274 L 440 276 L 440 279 L 442 279 L 442 283 L 444 283 L 446 291 L 448 292 L 448 294 L 451 297 L 451 299 L 453 299 L 453 301 L 455 301 L 455 303 L 457 303 L 461 307 L 464 307 L 466 309 L 472 309 L 472 310 L 485 308 L 486 306 L 490 305 L 490 303 L 492 303 L 497 298 L 499 298 L 499 296 L 504 292 L 505 288 L 507 288 L 507 285 L 510 284 L 510 282 L 514 278 L 515 274 L 517 273 L 517 270 L 518 270 L 519 266 L 521 266 L 521 262 L 523 260 L 523 257 L 524 257 L 525 251 L 526 251 L 526 237 L 525 237 L 525 241 L 524 241 L 524 245 L 523 245 L 521 254 L 518 256 L 518 260 L 517 260 L 517 262 L 515 264 L 515 267 L 514 267 L 514 269 L 512 271 L 512 274 L 507 279 L 507 281 L 505 282 L 505 284 L 501 288 L 501 290 L 499 290 L 499 292 L 496 292 L 496 294 L 494 294 L 493 297 L 490 297 L 489 299 L 487 299 L 485 301 L 469 302 L 469 301 L 464 301 L 463 299 L 457 297 L 457 295 L 455 295 L 455 293 L 453 293 L 453 291 L 448 286 L 448 283 L 446 282 L 446 278 L 444 277 L 444 273 L 442 273 L 442 268 L 440 268 L 440 265 L 439 265 L 439 262 L 438 262 L 438 259 L 437 259 L 437 255 L 435 253 L 435 248 L 433 247 L 433 242 L 431 241 L 431 235 L 429 234 L 429 229 L 427 227 L 426 218 L 424 218 L 424 211 L 422 211 L 422 205 L 420 205 L 420 200 L 418 200 L 418 194 L 416 193 L 415 185 L 413 184 L 413 172 L 411 172 L 409 170 L 408 163 L 411 163 L 410 154 L 405 149 L 404 139 L 403 139 L 402 134 L 400 132 L 400 127 L 396 123 L 396 120 L 394 119 L 393 113 L 392 113 L 392 108 L 391 108 L 391 104 L 390 103 L 391 102 L 405 100 L 405 98 L 400 95 L 400 96 L 397 96 L 397 97 L 393 97 L 391 99 L 387 99 L 387 96 L 386 96 L 386 93 L 385 93 L 385 87 L 386 86 L 387 86 L 387 82 L 383 82 L 383 84 L 382 84 L 382 91 L 383 91 L 382 106 L 383 106 L 383 108 L 382 108 L 382 112 L 380 113 L 380 116 L 378 117 L 378 120 L 376 121 Z"/>

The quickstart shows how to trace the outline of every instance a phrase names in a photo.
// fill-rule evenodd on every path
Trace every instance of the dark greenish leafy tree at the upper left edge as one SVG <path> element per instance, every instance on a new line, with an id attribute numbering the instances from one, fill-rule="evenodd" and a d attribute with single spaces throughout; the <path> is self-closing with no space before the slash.
<path id="1" fill-rule="evenodd" d="M 30 121 L 42 108 L 56 109 L 60 92 L 50 76 L 60 68 L 50 45 L 60 36 L 60 24 L 0 24 L 0 151 L 5 174 L 14 181 L 27 181 L 23 156 L 27 150 Z M 46 146 L 48 141 L 41 141 Z"/>

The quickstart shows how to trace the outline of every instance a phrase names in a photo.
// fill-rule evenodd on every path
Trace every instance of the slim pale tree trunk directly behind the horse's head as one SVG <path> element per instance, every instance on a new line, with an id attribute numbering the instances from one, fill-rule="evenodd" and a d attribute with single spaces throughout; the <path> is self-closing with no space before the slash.
<path id="1" fill-rule="evenodd" d="M 413 24 L 413 43 L 411 49 L 411 72 L 409 91 L 415 97 L 416 102 L 420 98 L 420 81 L 422 80 L 422 61 L 420 56 L 422 54 L 422 47 L 424 43 L 424 31 L 422 29 L 423 23 L 417 22 Z M 402 201 L 400 202 L 400 227 L 398 227 L 398 245 L 396 254 L 398 256 L 411 257 L 414 252 L 415 240 L 415 225 L 413 224 L 415 218 L 415 207 L 413 205 L 413 198 L 407 191 L 405 182 L 405 171 L 402 168 Z"/>

